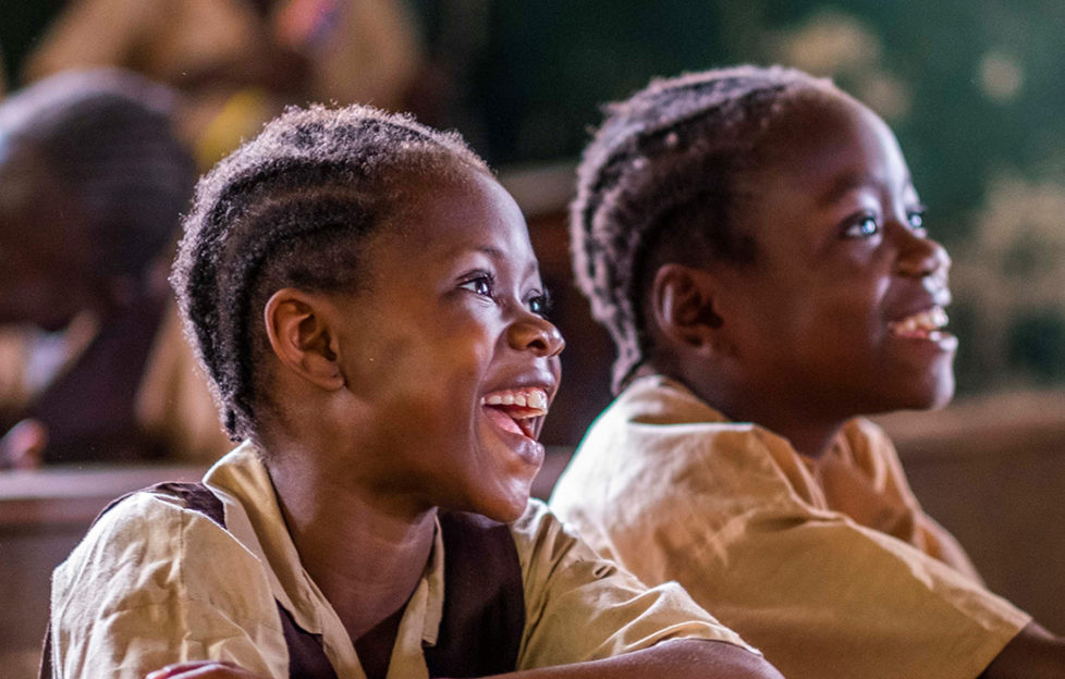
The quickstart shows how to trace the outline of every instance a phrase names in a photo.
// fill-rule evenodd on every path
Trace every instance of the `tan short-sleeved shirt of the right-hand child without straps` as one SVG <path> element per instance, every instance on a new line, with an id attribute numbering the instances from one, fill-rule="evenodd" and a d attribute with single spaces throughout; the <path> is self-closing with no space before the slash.
<path id="1" fill-rule="evenodd" d="M 589 430 L 551 507 L 645 581 L 680 581 L 788 679 L 972 679 L 1030 620 L 964 575 L 865 421 L 815 462 L 642 378 Z"/>

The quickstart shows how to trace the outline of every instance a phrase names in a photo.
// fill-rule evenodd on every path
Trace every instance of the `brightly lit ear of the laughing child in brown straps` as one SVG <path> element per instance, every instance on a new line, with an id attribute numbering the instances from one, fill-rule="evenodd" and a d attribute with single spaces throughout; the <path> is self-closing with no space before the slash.
<path id="1" fill-rule="evenodd" d="M 332 306 L 321 295 L 284 287 L 264 310 L 267 337 L 278 359 L 305 380 L 327 391 L 344 386 L 336 363 Z"/>

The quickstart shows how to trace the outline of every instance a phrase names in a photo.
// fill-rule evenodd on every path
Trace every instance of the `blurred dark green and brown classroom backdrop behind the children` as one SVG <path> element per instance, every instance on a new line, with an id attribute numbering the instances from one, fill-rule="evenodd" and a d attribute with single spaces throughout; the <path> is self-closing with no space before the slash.
<path id="1" fill-rule="evenodd" d="M 832 76 L 894 128 L 929 206 L 926 223 L 954 259 L 958 398 L 942 412 L 884 423 L 918 496 L 989 585 L 1065 632 L 1065 3 L 2 4 L 9 92 L 71 66 L 138 71 L 185 98 L 178 122 L 200 169 L 283 103 L 308 99 L 409 110 L 462 132 L 526 211 L 568 341 L 565 386 L 543 434 L 556 447 L 541 494 L 610 399 L 612 349 L 571 286 L 565 229 L 573 168 L 599 106 L 656 75 L 738 62 Z M 200 462 L 166 472 L 194 478 Z M 21 658 L 10 663 L 30 662 L 26 647 L 45 615 L 41 573 L 101 498 L 147 478 L 84 465 L 57 470 L 0 472 L 0 598 L 38 602 L 0 613 L 0 667 L 5 651 Z"/>

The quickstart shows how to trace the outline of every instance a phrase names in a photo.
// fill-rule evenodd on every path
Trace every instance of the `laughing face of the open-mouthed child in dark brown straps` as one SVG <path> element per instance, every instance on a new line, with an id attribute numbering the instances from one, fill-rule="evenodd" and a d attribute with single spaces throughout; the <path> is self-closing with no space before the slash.
<path id="1" fill-rule="evenodd" d="M 516 518 L 543 459 L 559 331 L 525 220 L 494 180 L 417 190 L 371 238 L 341 329 L 347 388 L 374 449 L 351 464 L 427 505 Z M 365 427 L 365 428 L 364 428 Z"/>

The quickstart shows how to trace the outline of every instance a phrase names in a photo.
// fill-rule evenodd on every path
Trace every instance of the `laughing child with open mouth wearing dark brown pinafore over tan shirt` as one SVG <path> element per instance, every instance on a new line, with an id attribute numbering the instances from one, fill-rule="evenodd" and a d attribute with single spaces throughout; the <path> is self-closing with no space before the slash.
<path id="1" fill-rule="evenodd" d="M 172 283 L 244 443 L 57 569 L 56 676 L 780 677 L 529 502 L 563 341 L 457 136 L 291 110 L 185 227 Z"/>

